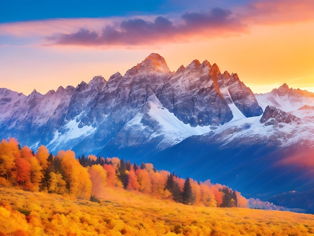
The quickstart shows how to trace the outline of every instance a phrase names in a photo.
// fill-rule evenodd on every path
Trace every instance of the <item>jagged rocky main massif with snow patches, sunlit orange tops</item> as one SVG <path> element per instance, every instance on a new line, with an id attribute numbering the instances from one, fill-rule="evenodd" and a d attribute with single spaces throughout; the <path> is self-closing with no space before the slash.
<path id="1" fill-rule="evenodd" d="M 0 135 L 52 151 L 91 153 L 142 144 L 165 149 L 230 122 L 235 113 L 262 113 L 237 74 L 222 74 L 216 64 L 198 60 L 171 72 L 154 53 L 107 82 L 95 76 L 88 84 L 82 81 L 76 88 L 60 87 L 45 95 L 36 90 L 29 96 L 0 92 L 1 108 L 8 110 L 0 116 Z"/>

